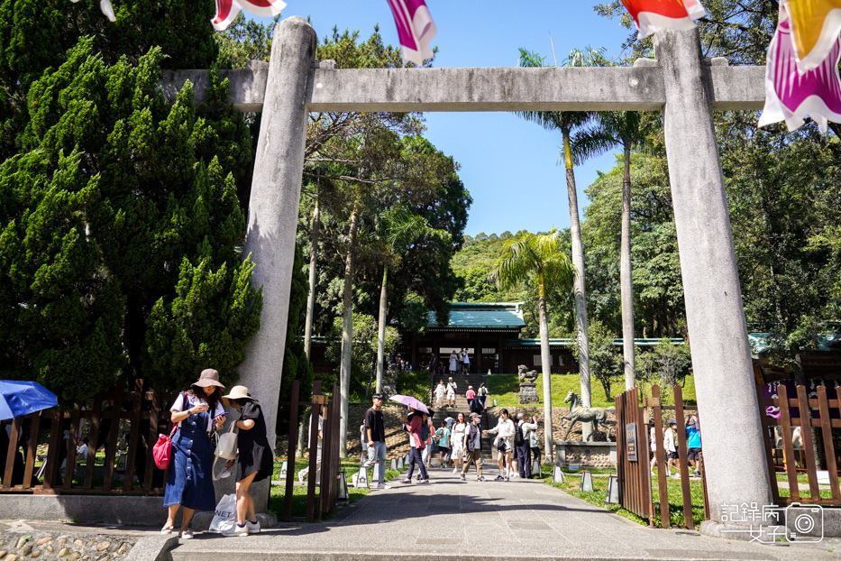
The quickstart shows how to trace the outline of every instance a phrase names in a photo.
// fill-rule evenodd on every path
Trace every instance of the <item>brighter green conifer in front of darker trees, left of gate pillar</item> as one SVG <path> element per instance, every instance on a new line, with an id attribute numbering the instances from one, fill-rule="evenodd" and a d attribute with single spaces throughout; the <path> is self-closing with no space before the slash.
<path id="1" fill-rule="evenodd" d="M 5 162 L 2 251 L 5 271 L 18 276 L 3 283 L 4 315 L 23 310 L 40 326 L 25 317 L 4 324 L 3 368 L 60 387 L 65 399 L 99 390 L 118 365 L 165 388 L 183 387 L 210 364 L 233 381 L 259 326 L 252 265 L 236 252 L 245 228 L 237 179 L 249 179 L 240 166 L 251 165 L 250 133 L 218 79 L 206 104 L 194 103 L 187 84 L 169 106 L 157 87 L 162 57 L 153 49 L 136 66 L 126 58 L 109 65 L 94 41 L 80 40 L 32 83 L 23 152 Z M 31 182 L 53 189 L 25 189 L 25 175 L 15 173 L 22 165 Z M 33 213 L 59 220 L 55 213 L 73 208 L 65 200 L 76 205 L 70 225 L 45 230 L 49 223 L 32 221 Z M 32 245 L 39 236 L 41 246 Z M 70 309 L 80 307 L 111 313 L 98 332 L 77 331 Z M 63 336 L 42 335 L 55 330 Z M 88 357 L 109 375 L 95 369 L 88 382 L 64 383 L 96 364 Z"/>

